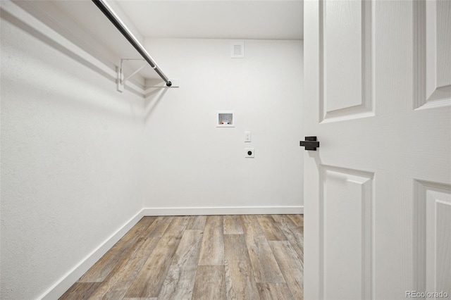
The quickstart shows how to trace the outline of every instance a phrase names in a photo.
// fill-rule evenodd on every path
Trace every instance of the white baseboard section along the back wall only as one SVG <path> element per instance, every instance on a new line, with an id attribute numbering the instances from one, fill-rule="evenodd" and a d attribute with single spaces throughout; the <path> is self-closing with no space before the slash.
<path id="1" fill-rule="evenodd" d="M 225 206 L 144 208 L 143 215 L 284 215 L 304 213 L 304 206 Z"/>

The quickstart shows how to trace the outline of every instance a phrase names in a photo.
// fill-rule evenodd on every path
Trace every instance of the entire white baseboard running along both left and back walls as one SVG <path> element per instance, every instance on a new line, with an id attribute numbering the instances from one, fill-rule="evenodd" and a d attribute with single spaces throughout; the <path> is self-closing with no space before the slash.
<path id="1" fill-rule="evenodd" d="M 304 206 L 238 206 L 238 207 L 164 207 L 143 208 L 142 211 L 133 216 L 121 228 L 108 237 L 97 249 L 87 255 L 78 265 L 61 277 L 58 282 L 47 289 L 39 299 L 58 299 L 72 285 L 77 282 L 83 274 L 94 265 L 106 251 L 111 249 L 121 237 L 135 226 L 142 217 L 146 215 L 278 215 L 304 213 Z"/>

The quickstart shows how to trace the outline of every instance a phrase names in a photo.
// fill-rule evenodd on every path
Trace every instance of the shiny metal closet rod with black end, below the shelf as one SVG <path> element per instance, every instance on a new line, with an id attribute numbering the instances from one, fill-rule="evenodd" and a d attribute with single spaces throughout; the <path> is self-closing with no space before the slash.
<path id="1" fill-rule="evenodd" d="M 172 82 L 169 81 L 168 77 L 164 75 L 163 71 L 160 70 L 159 66 L 156 65 L 155 61 L 152 57 L 147 53 L 146 49 L 142 46 L 142 44 L 137 40 L 137 38 L 132 34 L 132 32 L 125 26 L 122 22 L 121 18 L 116 15 L 116 13 L 111 9 L 111 7 L 106 3 L 105 0 L 92 0 L 94 4 L 101 10 L 106 18 L 109 18 L 111 23 L 113 23 L 116 28 L 122 33 L 125 39 L 132 44 L 133 47 L 141 54 L 141 56 L 149 63 L 149 65 L 155 70 L 158 75 L 160 75 L 161 79 L 166 82 L 166 86 L 171 87 Z"/>

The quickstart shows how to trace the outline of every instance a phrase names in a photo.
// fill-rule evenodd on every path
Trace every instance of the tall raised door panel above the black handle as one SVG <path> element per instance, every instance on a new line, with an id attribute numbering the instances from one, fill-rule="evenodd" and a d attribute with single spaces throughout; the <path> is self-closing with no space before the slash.
<path id="1" fill-rule="evenodd" d="M 323 1 L 321 121 L 373 115 L 371 2 Z"/>

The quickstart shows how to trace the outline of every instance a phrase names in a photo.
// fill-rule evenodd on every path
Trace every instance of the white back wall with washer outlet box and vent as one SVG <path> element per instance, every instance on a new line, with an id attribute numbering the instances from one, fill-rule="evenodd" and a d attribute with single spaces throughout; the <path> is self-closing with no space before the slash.
<path id="1" fill-rule="evenodd" d="M 302 211 L 302 41 L 246 40 L 245 58 L 230 58 L 230 41 L 221 39 L 147 39 L 145 46 L 180 88 L 147 97 L 144 207 Z M 215 127 L 218 110 L 235 111 L 235 127 Z M 247 130 L 251 143 L 243 142 Z M 245 158 L 245 147 L 255 158 Z"/>

